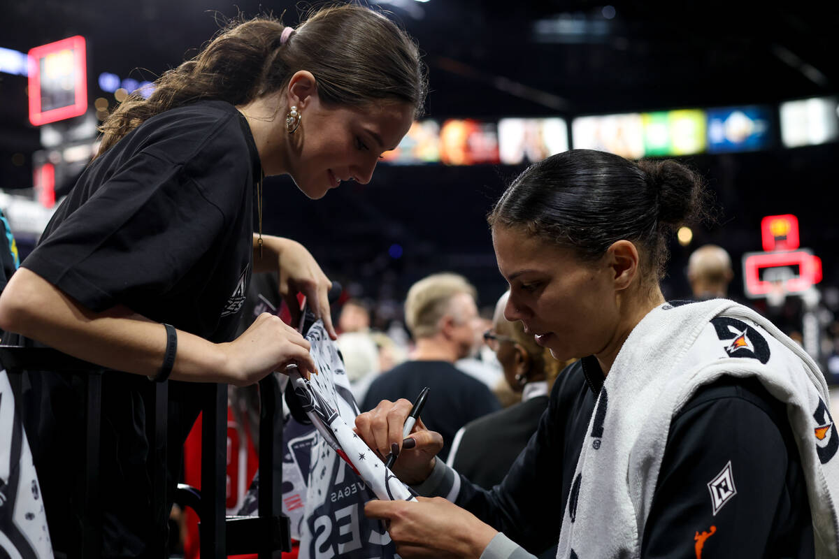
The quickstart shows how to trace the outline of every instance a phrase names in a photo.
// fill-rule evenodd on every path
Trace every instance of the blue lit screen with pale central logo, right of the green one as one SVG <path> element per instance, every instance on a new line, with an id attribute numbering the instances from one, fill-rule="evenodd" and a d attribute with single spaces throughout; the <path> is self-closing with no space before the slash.
<path id="1" fill-rule="evenodd" d="M 770 148 L 770 112 L 766 106 L 709 109 L 708 152 L 748 152 Z"/>

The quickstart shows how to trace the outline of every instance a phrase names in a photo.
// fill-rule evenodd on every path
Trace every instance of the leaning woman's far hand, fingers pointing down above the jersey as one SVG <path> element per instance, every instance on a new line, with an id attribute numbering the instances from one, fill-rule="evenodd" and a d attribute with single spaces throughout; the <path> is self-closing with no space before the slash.
<path id="1" fill-rule="evenodd" d="M 297 302 L 297 293 L 300 292 L 306 296 L 315 316 L 323 319 L 331 339 L 337 339 L 329 312 L 328 293 L 332 282 L 320 269 L 315 258 L 299 242 L 267 235 L 263 235 L 262 239 L 263 254 L 260 256 L 258 237 L 253 236 L 253 271 L 279 270 L 279 293 L 291 311 L 291 323 L 296 324 L 300 320 L 300 304 Z"/>

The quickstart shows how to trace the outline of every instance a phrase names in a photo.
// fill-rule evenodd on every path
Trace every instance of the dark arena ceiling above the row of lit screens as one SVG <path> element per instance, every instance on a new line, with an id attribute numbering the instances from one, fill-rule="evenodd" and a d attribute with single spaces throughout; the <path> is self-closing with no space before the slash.
<path id="1" fill-rule="evenodd" d="M 0 46 L 82 34 L 91 75 L 154 75 L 231 17 L 307 6 L 253 0 L 3 0 Z M 420 43 L 430 116 L 568 115 L 773 102 L 833 93 L 835 3 L 378 0 Z M 135 71 L 134 75 L 138 75 Z M 25 123 L 7 100 L 3 122 Z M 4 128 L 7 125 L 4 124 Z"/>

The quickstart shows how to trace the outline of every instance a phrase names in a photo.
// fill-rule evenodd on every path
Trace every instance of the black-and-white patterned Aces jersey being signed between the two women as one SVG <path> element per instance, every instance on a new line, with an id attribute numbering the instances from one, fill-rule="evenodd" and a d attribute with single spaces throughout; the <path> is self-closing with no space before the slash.
<path id="1" fill-rule="evenodd" d="M 364 516 L 364 504 L 376 497 L 414 499 L 413 494 L 352 431 L 358 406 L 349 391 L 341 357 L 323 323 L 317 321 L 306 339 L 319 374 L 305 380 L 289 370 L 289 384 L 300 398 L 314 434 L 308 466 L 297 453 L 292 458 L 301 472 L 307 469 L 302 521 L 298 525 L 300 558 L 394 557 L 388 531 L 382 522 Z"/>

